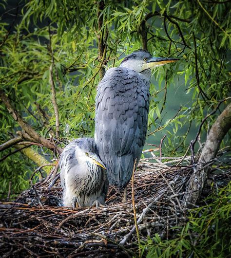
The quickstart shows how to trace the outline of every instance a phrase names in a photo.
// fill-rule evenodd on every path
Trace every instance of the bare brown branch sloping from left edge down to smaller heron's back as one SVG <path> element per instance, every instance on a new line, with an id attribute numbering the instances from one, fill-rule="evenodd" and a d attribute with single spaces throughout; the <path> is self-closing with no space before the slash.
<path id="1" fill-rule="evenodd" d="M 5 104 L 9 113 L 14 118 L 14 120 L 17 121 L 19 126 L 29 135 L 30 138 L 33 138 L 34 141 L 42 144 L 44 147 L 47 147 L 51 150 L 56 149 L 59 153 L 61 153 L 60 148 L 56 147 L 49 140 L 39 136 L 39 134 L 22 119 L 22 117 L 19 115 L 19 112 L 13 108 L 9 98 L 6 96 L 6 94 L 1 89 L 0 89 L 0 98 L 1 98 L 2 102 Z"/>

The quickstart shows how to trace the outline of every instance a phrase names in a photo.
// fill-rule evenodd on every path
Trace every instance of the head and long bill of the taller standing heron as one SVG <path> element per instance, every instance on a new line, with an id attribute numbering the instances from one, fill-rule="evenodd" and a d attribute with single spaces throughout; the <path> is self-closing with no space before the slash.
<path id="1" fill-rule="evenodd" d="M 137 73 L 141 73 L 147 69 L 153 69 L 158 66 L 162 66 L 168 63 L 173 63 L 179 59 L 177 58 L 165 58 L 165 57 L 153 57 L 149 52 L 144 50 L 138 50 L 130 55 L 127 55 L 120 64 L 120 67 L 126 67 L 134 70 Z"/>

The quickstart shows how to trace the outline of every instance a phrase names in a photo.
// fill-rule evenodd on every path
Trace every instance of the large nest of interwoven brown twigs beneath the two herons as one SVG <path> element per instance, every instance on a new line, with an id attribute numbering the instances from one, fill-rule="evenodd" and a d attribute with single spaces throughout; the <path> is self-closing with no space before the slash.
<path id="1" fill-rule="evenodd" d="M 191 173 L 189 165 L 139 164 L 134 189 L 140 240 L 155 233 L 169 237 L 169 228 L 187 220 L 182 197 Z M 127 203 L 121 202 L 123 193 L 111 186 L 105 207 L 60 207 L 59 172 L 54 167 L 47 178 L 24 191 L 15 202 L 0 203 L 3 256 L 136 256 L 131 189 L 130 183 Z"/>

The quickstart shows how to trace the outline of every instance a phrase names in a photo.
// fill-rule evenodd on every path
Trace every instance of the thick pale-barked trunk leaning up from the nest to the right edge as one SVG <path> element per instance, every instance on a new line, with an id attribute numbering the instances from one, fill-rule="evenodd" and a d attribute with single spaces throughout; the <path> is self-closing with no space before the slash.
<path id="1" fill-rule="evenodd" d="M 231 104 L 218 116 L 210 129 L 205 146 L 194 168 L 190 178 L 187 193 L 185 195 L 186 205 L 195 204 L 199 199 L 203 186 L 210 171 L 210 163 L 215 158 L 221 141 L 231 128 Z"/>

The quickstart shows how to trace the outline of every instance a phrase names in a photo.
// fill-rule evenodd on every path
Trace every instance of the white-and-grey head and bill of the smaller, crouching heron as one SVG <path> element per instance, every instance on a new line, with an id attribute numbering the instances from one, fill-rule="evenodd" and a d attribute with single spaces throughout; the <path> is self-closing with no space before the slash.
<path id="1" fill-rule="evenodd" d="M 97 166 L 101 166 L 102 168 L 106 169 L 105 165 L 95 152 L 95 141 L 92 138 L 77 139 L 75 156 L 79 163 L 89 162 L 91 164 L 96 164 Z"/>

